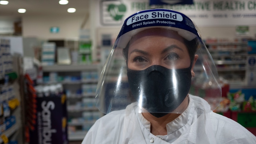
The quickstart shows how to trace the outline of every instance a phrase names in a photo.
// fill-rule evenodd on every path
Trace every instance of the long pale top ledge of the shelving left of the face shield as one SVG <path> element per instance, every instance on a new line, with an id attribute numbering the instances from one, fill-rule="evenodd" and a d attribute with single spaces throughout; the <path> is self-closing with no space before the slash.
<path id="1" fill-rule="evenodd" d="M 43 72 L 75 72 L 99 69 L 98 64 L 52 65 L 43 66 Z"/>

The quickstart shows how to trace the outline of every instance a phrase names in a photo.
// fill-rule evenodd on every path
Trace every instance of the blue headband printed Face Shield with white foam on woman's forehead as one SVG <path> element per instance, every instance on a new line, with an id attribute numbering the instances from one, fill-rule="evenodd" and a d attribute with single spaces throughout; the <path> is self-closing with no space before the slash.
<path id="1" fill-rule="evenodd" d="M 177 31 L 188 41 L 200 37 L 192 20 L 183 13 L 167 9 L 152 9 L 137 12 L 124 21 L 117 36 L 116 46 L 125 48 L 133 35 L 154 27 Z"/>

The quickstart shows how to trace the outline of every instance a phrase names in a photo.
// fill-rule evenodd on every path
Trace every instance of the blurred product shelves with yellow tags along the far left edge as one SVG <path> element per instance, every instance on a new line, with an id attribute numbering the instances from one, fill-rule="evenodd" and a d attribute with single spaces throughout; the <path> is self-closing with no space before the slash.
<path id="1" fill-rule="evenodd" d="M 19 59 L 10 52 L 10 39 L 0 38 L 0 144 L 23 143 Z"/>

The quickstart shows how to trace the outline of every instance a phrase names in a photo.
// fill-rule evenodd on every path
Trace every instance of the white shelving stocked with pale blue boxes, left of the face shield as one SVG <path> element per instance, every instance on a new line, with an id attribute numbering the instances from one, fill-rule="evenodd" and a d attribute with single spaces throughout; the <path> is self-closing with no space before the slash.
<path id="1" fill-rule="evenodd" d="M 103 115 L 95 105 L 100 65 L 43 66 L 42 71 L 45 84 L 61 83 L 66 92 L 69 141 L 83 140 L 89 128 Z"/>

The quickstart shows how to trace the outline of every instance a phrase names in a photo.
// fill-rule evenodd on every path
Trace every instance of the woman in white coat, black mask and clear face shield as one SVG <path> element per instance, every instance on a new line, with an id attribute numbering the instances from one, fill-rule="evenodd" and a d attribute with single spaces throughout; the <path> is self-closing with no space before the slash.
<path id="1" fill-rule="evenodd" d="M 203 96 L 208 102 L 188 94 L 197 61 L 201 86 L 211 90 Z M 210 100 L 218 103 L 220 96 L 214 63 L 186 15 L 135 13 L 125 20 L 97 87 L 97 106 L 107 115 L 82 143 L 255 143 L 244 127 L 212 112 Z"/>

